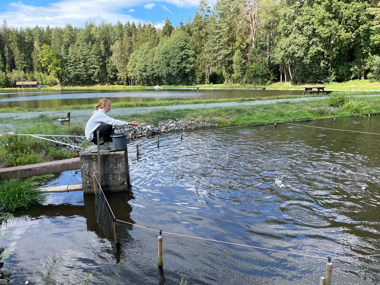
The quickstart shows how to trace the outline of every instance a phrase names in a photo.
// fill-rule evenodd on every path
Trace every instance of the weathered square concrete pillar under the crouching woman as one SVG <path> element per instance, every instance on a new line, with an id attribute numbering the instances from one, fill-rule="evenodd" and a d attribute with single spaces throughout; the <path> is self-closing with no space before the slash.
<path id="1" fill-rule="evenodd" d="M 94 194 L 92 174 L 98 171 L 96 146 L 89 146 L 79 154 L 83 194 Z M 131 189 L 128 150 L 100 151 L 101 188 L 103 192 L 121 192 Z"/>

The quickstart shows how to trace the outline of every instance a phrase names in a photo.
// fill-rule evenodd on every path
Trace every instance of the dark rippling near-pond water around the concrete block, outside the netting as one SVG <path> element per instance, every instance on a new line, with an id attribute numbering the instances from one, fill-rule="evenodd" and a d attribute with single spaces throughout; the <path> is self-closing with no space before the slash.
<path id="1" fill-rule="evenodd" d="M 157 138 L 133 141 L 128 144 L 133 194 L 106 194 L 111 209 L 118 220 L 132 224 L 265 249 L 323 258 L 378 254 L 380 141 L 369 133 L 379 133 L 380 117 L 300 124 L 304 126 L 279 123 L 277 128 L 272 124 L 195 131 L 183 133 L 182 140 L 171 134 L 160 137 L 160 147 Z M 80 176 L 68 171 L 47 185 L 80 184 Z M 17 269 L 11 277 L 15 283 L 41 283 L 44 263 L 55 258 L 57 277 L 67 284 L 79 284 L 89 271 L 103 272 L 105 283 L 111 284 L 116 263 L 123 258 L 120 284 L 163 284 L 157 268 L 117 252 L 96 222 L 92 195 L 50 194 L 43 206 L 18 216 L 3 226 L 4 247 L 13 252 L 5 262 Z M 317 261 L 321 268 L 326 264 L 315 257 L 242 250 L 263 260 Z M 333 262 L 350 265 L 345 274 L 356 275 L 352 268 L 357 263 L 376 264 L 378 272 L 379 261 L 372 256 Z M 217 277 L 181 275 L 189 284 L 218 284 Z M 368 284 L 378 283 L 379 276 Z M 178 274 L 166 271 L 165 277 L 166 284 L 179 284 Z"/>

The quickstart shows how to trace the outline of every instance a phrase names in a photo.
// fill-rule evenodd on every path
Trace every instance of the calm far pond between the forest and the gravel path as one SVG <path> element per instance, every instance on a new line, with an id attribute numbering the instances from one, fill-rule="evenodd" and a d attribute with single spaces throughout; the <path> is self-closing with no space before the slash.
<path id="1" fill-rule="evenodd" d="M 256 89 L 154 89 L 138 90 L 11 90 L 0 93 L 0 108 L 44 108 L 63 105 L 93 104 L 101 98 L 112 102 L 147 102 L 163 100 L 192 100 L 220 98 L 272 97 L 302 95 L 302 90 Z"/>

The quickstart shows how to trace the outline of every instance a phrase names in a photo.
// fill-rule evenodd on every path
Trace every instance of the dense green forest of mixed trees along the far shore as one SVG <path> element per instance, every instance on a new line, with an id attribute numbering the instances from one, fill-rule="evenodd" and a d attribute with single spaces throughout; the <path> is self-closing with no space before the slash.
<path id="1" fill-rule="evenodd" d="M 54 26 L 54 23 L 52 23 Z M 380 2 L 200 0 L 195 15 L 0 28 L 0 88 L 380 80 Z"/>

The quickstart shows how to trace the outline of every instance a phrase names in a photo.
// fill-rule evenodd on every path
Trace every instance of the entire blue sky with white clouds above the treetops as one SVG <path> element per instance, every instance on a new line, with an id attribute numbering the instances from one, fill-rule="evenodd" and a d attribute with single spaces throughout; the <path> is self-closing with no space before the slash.
<path id="1" fill-rule="evenodd" d="M 216 0 L 209 0 L 210 6 Z M 199 0 L 0 0 L 0 19 L 6 19 L 8 27 L 46 27 L 71 24 L 83 27 L 86 21 L 100 24 L 102 21 L 116 24 L 117 19 L 129 21 L 149 21 L 162 27 L 166 17 L 173 26 L 180 18 L 186 22 L 190 14 L 194 16 Z"/>

